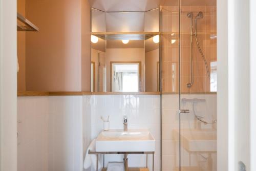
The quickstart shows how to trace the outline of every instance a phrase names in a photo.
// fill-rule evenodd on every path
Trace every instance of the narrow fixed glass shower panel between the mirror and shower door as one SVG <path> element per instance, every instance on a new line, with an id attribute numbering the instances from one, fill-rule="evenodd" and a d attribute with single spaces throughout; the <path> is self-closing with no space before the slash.
<path id="1" fill-rule="evenodd" d="M 165 1 L 161 18 L 161 170 L 179 170 L 179 1 Z"/>

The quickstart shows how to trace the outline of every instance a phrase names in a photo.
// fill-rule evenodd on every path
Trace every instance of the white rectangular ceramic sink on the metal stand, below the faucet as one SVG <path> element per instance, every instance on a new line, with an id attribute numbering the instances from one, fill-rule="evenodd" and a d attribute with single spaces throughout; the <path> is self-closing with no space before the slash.
<path id="1" fill-rule="evenodd" d="M 155 139 L 148 130 L 102 131 L 96 139 L 96 152 L 154 152 Z"/>

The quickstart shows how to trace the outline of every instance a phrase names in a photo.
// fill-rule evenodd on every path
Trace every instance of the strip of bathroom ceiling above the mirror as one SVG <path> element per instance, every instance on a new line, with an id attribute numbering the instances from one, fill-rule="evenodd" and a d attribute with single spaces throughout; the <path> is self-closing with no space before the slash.
<path id="1" fill-rule="evenodd" d="M 159 7 L 162 0 L 89 0 L 91 7 L 105 12 L 144 12 Z"/>

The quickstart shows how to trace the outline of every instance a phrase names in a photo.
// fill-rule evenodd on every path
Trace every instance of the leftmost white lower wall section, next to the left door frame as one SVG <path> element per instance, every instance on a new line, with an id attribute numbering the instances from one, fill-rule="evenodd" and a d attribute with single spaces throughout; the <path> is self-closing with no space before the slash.
<path id="1" fill-rule="evenodd" d="M 18 170 L 48 170 L 48 97 L 18 97 Z"/>

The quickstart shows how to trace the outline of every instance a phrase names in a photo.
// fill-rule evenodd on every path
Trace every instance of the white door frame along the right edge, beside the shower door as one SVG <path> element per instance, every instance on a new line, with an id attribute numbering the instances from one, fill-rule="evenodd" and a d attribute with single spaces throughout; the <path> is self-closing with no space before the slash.
<path id="1" fill-rule="evenodd" d="M 217 0 L 217 167 L 256 170 L 256 3 Z"/>

